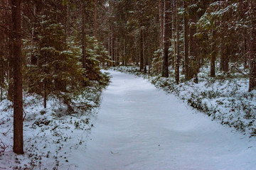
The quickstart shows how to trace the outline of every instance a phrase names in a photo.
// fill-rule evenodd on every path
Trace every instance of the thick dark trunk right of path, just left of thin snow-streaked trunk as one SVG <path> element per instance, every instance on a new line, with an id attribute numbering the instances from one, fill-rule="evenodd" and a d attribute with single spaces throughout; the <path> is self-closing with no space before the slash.
<path id="1" fill-rule="evenodd" d="M 168 50 L 169 39 L 171 38 L 171 2 L 169 0 L 164 1 L 164 55 L 162 64 L 162 77 L 169 77 L 169 63 L 168 63 Z"/>

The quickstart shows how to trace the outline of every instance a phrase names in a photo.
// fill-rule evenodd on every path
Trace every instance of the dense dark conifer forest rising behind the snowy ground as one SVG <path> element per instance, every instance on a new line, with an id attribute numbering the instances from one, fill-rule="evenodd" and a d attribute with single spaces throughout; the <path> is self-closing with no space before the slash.
<path id="1" fill-rule="evenodd" d="M 176 84 L 197 83 L 208 67 L 209 77 L 238 72 L 256 89 L 254 0 L 0 2 L 0 101 L 19 108 L 14 132 L 22 90 L 43 96 L 45 108 L 54 97 L 72 111 L 85 87 L 106 84 L 102 67 L 138 65 Z"/>

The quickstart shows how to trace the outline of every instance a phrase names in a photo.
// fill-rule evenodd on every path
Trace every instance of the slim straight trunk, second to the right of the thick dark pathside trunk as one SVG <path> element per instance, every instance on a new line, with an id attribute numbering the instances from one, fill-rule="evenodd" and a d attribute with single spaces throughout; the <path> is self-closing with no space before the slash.
<path id="1" fill-rule="evenodd" d="M 183 21 L 184 21 L 184 71 L 185 79 L 189 79 L 189 59 L 188 59 L 188 4 L 186 1 L 183 1 L 183 8 L 185 10 Z"/>

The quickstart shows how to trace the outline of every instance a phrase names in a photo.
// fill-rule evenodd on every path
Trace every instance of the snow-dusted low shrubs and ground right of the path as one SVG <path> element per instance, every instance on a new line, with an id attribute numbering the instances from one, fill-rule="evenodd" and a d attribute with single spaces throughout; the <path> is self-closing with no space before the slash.
<path id="1" fill-rule="evenodd" d="M 205 67 L 198 74 L 198 84 L 193 79 L 185 81 L 183 75 L 181 84 L 176 84 L 172 69 L 169 69 L 169 78 L 144 74 L 136 66 L 111 69 L 144 77 L 157 88 L 178 96 L 189 106 L 206 113 L 212 120 L 250 137 L 256 135 L 256 91 L 248 92 L 249 80 L 242 74 L 218 72 L 215 78 L 210 78 L 210 69 Z"/>

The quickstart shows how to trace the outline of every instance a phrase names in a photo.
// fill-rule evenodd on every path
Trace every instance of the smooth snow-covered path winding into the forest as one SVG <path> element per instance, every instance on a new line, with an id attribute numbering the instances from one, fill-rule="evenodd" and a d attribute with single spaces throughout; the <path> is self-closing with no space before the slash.
<path id="1" fill-rule="evenodd" d="M 256 169 L 255 139 L 132 74 L 110 71 L 80 169 Z"/>

